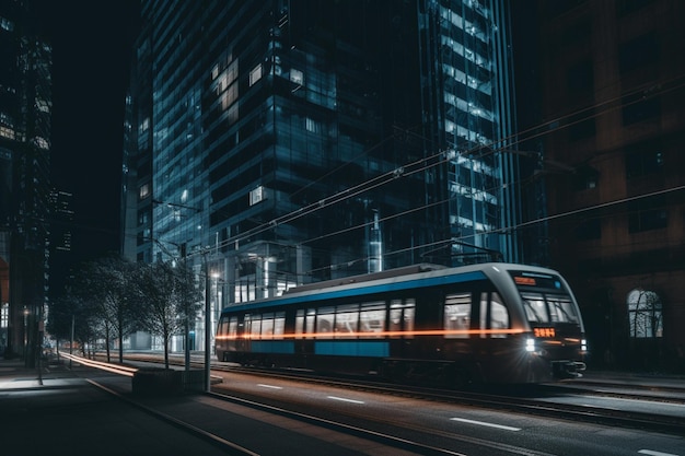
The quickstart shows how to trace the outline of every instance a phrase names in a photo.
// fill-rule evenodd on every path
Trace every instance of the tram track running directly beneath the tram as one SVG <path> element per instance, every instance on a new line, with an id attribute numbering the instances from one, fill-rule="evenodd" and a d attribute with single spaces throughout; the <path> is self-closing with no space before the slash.
<path id="1" fill-rule="evenodd" d="M 132 356 L 127 358 L 133 361 Z M 137 356 L 138 361 L 153 362 L 154 356 L 146 354 Z M 174 361 L 178 364 L 181 360 Z M 201 364 L 198 364 L 198 366 Z M 312 373 L 294 372 L 272 369 L 252 369 L 227 363 L 212 365 L 212 371 L 223 371 L 227 373 L 241 373 L 248 375 L 268 376 L 298 382 L 314 382 L 320 385 L 330 385 L 346 389 L 358 389 L 373 391 L 376 394 L 394 395 L 426 399 L 441 402 L 453 402 L 458 405 L 487 408 L 497 411 L 511 411 L 523 414 L 564 419 L 578 422 L 591 422 L 609 426 L 624 426 L 629 429 L 650 430 L 655 432 L 685 434 L 685 417 L 659 414 L 651 412 L 628 411 L 615 408 L 589 407 L 587 405 L 573 405 L 553 402 L 544 400 L 555 396 L 601 396 L 614 397 L 627 400 L 640 401 L 667 401 L 670 404 L 685 406 L 685 388 L 672 388 L 670 393 L 681 394 L 680 397 L 663 397 L 650 394 L 648 387 L 634 390 L 625 390 L 626 385 L 612 385 L 606 382 L 592 383 L 588 381 L 574 383 L 561 383 L 559 385 L 539 385 L 538 387 L 515 390 L 514 388 L 503 388 L 501 391 L 491 390 L 452 390 L 427 388 L 419 386 L 407 386 L 386 384 L 380 382 L 369 382 L 361 379 L 339 379 Z M 612 390 L 612 388 L 616 388 Z M 624 388 L 624 390 L 619 390 Z M 541 398 L 542 396 L 542 398 Z"/>

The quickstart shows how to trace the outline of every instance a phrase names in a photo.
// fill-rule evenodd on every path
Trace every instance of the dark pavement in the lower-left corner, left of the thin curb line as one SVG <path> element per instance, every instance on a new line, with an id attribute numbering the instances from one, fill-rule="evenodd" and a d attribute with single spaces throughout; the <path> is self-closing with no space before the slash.
<path id="1" fill-rule="evenodd" d="M 225 454 L 95 388 L 79 376 L 84 369 L 77 364 L 68 366 L 68 361 L 48 364 L 40 382 L 38 371 L 22 360 L 0 359 L 0 454 Z"/>

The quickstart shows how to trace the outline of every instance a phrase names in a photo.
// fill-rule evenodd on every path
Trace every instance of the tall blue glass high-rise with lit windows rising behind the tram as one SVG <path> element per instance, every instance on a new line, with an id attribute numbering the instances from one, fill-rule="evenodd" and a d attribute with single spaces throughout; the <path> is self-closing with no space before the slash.
<path id="1" fill-rule="evenodd" d="M 520 260 L 503 5 L 144 2 L 125 255 L 209 274 L 212 315 L 323 279 Z"/>

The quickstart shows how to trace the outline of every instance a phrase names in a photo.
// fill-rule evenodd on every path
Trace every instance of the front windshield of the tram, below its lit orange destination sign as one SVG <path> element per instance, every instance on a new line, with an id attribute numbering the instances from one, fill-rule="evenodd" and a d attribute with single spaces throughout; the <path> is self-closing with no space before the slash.
<path id="1" fill-rule="evenodd" d="M 580 323 L 578 307 L 558 277 L 526 271 L 511 271 L 510 273 L 523 299 L 529 321 L 533 324 Z"/>

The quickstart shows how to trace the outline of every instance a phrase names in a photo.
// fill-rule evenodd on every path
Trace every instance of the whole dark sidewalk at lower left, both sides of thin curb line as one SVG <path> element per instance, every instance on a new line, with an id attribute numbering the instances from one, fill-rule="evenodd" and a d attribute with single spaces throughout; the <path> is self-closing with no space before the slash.
<path id="1" fill-rule="evenodd" d="M 76 363 L 69 371 L 68 363 L 48 365 L 40 385 L 36 370 L 0 359 L 2 456 L 417 456 L 326 425 L 201 394 L 132 395 L 131 377 Z M 128 404 L 131 398 L 140 404 Z M 179 422 L 197 431 L 181 429 Z M 202 436 L 204 432 L 212 435 Z"/>

